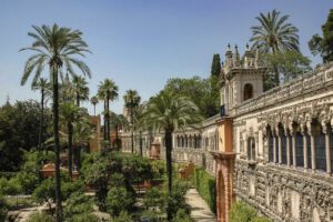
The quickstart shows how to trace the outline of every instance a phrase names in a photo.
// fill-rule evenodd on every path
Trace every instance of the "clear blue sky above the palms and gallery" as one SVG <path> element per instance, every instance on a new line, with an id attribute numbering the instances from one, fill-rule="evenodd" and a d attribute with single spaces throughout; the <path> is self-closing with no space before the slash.
<path id="1" fill-rule="evenodd" d="M 27 33 L 32 24 L 57 22 L 83 31 L 93 52 L 85 59 L 91 94 L 100 81 L 113 79 L 120 98 L 111 109 L 120 113 L 125 90 L 137 89 L 147 100 L 170 78 L 208 77 L 213 53 L 224 54 L 229 42 L 243 51 L 260 12 L 290 14 L 300 29 L 303 54 L 313 64 L 321 62 L 311 56 L 307 41 L 321 33 L 330 8 L 329 0 L 1 0 L 0 104 L 7 94 L 11 102 L 39 99 L 29 85 L 19 84 L 29 53 L 18 50 L 31 43 Z"/>

